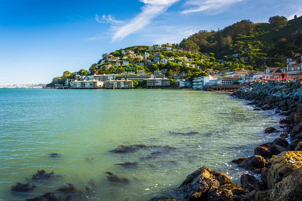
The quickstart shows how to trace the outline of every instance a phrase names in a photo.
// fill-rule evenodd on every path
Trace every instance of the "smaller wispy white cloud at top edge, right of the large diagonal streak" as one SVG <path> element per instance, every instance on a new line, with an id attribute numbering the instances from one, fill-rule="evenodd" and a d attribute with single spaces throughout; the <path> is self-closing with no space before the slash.
<path id="1" fill-rule="evenodd" d="M 221 8 L 228 7 L 237 2 L 242 2 L 244 0 L 189 0 L 186 2 L 186 6 L 193 6 L 194 8 L 181 11 L 181 14 L 202 12 L 206 10 L 218 10 Z"/>

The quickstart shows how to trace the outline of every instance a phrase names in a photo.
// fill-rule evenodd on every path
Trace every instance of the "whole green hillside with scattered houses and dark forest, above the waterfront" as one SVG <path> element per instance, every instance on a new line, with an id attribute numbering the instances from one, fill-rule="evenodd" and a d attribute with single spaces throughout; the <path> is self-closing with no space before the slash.
<path id="1" fill-rule="evenodd" d="M 269 23 L 256 24 L 242 20 L 222 30 L 199 31 L 180 44 L 161 44 L 159 49 L 138 45 L 103 54 L 102 59 L 86 69 L 64 71 L 48 86 L 64 84 L 75 75 L 163 70 L 169 78 L 174 73 L 188 73 L 188 79 L 192 80 L 211 71 L 285 66 L 289 51 L 302 51 L 301 29 L 302 17 L 287 21 L 285 17 L 275 16 Z"/>

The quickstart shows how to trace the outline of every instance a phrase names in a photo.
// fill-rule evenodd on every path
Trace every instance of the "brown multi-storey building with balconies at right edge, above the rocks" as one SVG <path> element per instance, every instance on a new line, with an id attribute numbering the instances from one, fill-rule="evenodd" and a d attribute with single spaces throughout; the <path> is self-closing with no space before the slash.
<path id="1" fill-rule="evenodd" d="M 301 53 L 294 53 L 293 51 L 286 57 L 287 64 L 286 64 L 286 71 L 287 77 L 301 77 Z"/>

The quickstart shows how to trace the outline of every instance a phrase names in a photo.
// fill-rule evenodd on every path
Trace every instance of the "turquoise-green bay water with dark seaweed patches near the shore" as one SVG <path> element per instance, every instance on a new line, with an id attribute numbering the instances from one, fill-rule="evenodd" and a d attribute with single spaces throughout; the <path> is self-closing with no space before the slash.
<path id="1" fill-rule="evenodd" d="M 0 200 L 25 200 L 49 191 L 64 200 L 68 193 L 56 189 L 65 183 L 83 192 L 74 192 L 73 200 L 148 200 L 171 193 L 199 166 L 228 173 L 239 183 L 246 170 L 231 160 L 252 155 L 256 145 L 272 141 L 277 134 L 263 130 L 278 126 L 280 119 L 252 110 L 216 92 L 0 89 Z M 188 132 L 198 134 L 175 134 Z M 133 144 L 177 149 L 147 159 L 162 150 L 109 152 Z M 61 157 L 49 157 L 52 152 Z M 138 165 L 115 165 L 123 162 Z M 33 181 L 38 169 L 55 175 Z M 109 181 L 105 171 L 130 182 Z M 12 193 L 16 182 L 37 187 Z"/>

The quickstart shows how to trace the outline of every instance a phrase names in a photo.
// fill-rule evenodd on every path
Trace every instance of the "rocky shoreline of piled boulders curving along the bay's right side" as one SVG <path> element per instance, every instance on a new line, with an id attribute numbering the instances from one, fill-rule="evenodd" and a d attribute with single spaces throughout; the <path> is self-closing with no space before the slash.
<path id="1" fill-rule="evenodd" d="M 286 116 L 280 120 L 285 132 L 279 138 L 257 146 L 255 155 L 249 158 L 232 161 L 260 174 L 261 180 L 243 174 L 241 185 L 237 185 L 226 174 L 200 167 L 175 190 L 175 197 L 155 197 L 151 201 L 302 200 L 302 79 L 255 81 L 232 95 L 250 100 L 255 111 L 275 110 L 276 114 Z M 278 129 L 270 127 L 264 132 L 279 132 Z"/>

